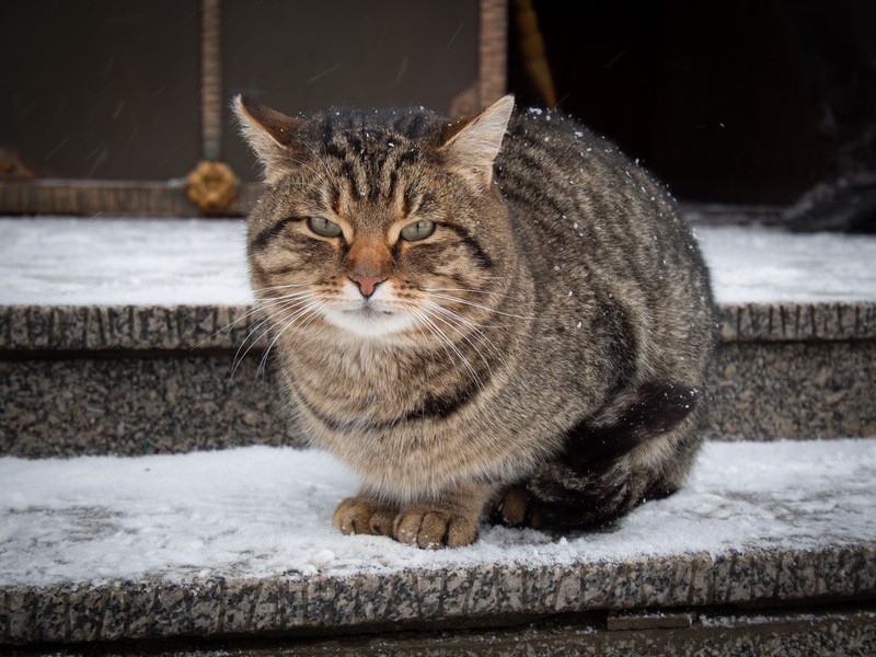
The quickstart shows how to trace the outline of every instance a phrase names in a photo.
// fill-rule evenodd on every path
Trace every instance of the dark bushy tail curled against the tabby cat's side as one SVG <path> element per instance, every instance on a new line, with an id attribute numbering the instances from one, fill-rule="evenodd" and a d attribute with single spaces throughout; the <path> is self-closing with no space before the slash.
<path id="1" fill-rule="evenodd" d="M 669 381 L 618 395 L 566 436 L 564 451 L 505 492 L 494 519 L 535 528 L 608 523 L 682 483 L 702 440 L 685 422 L 702 392 Z"/>

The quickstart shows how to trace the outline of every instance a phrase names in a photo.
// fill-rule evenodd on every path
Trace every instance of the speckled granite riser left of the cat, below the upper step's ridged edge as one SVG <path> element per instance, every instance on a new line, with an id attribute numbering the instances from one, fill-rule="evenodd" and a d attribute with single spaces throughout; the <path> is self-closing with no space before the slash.
<path id="1" fill-rule="evenodd" d="M 298 445 L 274 376 L 233 351 L 0 359 L 0 453 L 172 453 Z"/>

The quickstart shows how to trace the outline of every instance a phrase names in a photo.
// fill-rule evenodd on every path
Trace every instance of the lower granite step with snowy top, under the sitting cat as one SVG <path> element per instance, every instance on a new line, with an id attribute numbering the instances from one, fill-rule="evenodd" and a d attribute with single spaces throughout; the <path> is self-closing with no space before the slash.
<path id="1" fill-rule="evenodd" d="M 357 481 L 315 451 L 7 457 L 0 644 L 385 634 L 588 613 L 624 631 L 661 614 L 693 614 L 692 625 L 714 609 L 846 602 L 873 645 L 875 481 L 874 438 L 711 442 L 684 488 L 602 531 L 483 527 L 477 543 L 433 552 L 336 533 L 332 510 Z"/>

